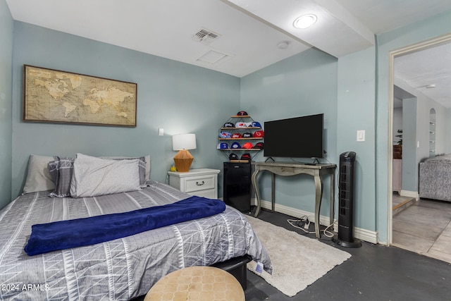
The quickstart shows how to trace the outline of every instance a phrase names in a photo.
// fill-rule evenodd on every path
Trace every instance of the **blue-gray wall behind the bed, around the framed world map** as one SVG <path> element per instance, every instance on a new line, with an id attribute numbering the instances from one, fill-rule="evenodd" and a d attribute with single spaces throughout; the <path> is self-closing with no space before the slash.
<path id="1" fill-rule="evenodd" d="M 24 64 L 136 82 L 137 127 L 23 122 Z M 23 188 L 30 154 L 151 154 L 151 178 L 164 182 L 176 154 L 171 135 L 177 133 L 197 135 L 192 168 L 222 169 L 216 129 L 239 109 L 239 78 L 16 21 L 12 195 Z"/>

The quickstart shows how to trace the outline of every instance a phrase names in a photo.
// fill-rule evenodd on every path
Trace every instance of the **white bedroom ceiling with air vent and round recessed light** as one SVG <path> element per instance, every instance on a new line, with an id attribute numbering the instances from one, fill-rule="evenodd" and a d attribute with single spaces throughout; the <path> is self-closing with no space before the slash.
<path id="1" fill-rule="evenodd" d="M 239 78 L 311 47 L 339 58 L 371 47 L 374 35 L 451 10 L 449 0 L 6 0 L 6 3 L 14 20 Z M 295 18 L 306 13 L 314 13 L 318 17 L 316 23 L 304 30 L 293 27 Z M 421 75 L 423 71 L 406 72 Z M 420 78 L 416 77 L 412 84 L 424 85 Z"/>

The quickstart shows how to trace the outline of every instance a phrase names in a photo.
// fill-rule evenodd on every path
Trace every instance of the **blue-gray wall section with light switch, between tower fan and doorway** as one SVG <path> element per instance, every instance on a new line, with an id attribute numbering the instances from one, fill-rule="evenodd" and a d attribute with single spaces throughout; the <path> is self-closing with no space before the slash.
<path id="1" fill-rule="evenodd" d="M 338 154 L 354 151 L 354 226 L 376 226 L 376 52 L 374 47 L 338 59 Z M 357 142 L 357 130 L 365 141 Z"/>

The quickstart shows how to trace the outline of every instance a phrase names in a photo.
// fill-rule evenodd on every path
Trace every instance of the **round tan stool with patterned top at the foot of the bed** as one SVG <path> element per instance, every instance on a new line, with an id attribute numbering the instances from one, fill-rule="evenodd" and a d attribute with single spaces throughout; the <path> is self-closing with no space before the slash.
<path id="1" fill-rule="evenodd" d="M 211 266 L 190 266 L 161 278 L 144 301 L 245 301 L 245 292 L 227 271 Z"/>

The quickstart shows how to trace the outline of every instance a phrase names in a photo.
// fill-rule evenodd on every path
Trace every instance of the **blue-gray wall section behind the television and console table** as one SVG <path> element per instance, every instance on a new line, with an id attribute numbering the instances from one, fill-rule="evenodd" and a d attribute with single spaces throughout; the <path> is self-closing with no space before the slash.
<path id="1" fill-rule="evenodd" d="M 260 121 L 292 118 L 324 113 L 326 149 L 322 162 L 337 162 L 337 59 L 316 49 L 309 49 L 263 68 L 241 79 L 241 108 Z M 287 129 L 296 139 L 296 129 Z M 290 141 L 287 141 L 290 147 Z M 260 153 L 255 161 L 264 161 Z M 283 158 L 277 158 L 283 161 Z M 285 161 L 290 161 L 285 159 Z M 311 161 L 311 159 L 299 159 Z M 271 176 L 262 173 L 262 199 L 271 200 Z M 311 176 L 278 178 L 276 203 L 314 212 L 315 186 Z M 321 214 L 328 216 L 328 179 L 325 180 L 326 201 Z"/>

